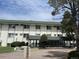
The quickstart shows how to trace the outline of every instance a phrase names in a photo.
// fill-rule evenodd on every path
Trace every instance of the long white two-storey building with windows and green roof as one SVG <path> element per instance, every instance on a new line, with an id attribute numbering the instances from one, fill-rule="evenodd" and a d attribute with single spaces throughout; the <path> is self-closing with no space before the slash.
<path id="1" fill-rule="evenodd" d="M 26 35 L 41 36 L 46 34 L 51 37 L 62 35 L 59 22 L 47 21 L 16 21 L 0 20 L 0 42 L 1 46 L 15 41 L 26 42 Z"/>

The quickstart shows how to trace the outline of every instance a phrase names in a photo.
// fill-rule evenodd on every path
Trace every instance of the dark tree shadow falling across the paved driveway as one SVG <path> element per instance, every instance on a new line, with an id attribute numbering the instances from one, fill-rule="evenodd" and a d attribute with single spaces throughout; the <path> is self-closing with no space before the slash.
<path id="1" fill-rule="evenodd" d="M 53 58 L 53 57 L 65 57 L 67 56 L 67 52 L 62 51 L 48 51 L 47 55 L 43 55 L 43 57 Z"/>

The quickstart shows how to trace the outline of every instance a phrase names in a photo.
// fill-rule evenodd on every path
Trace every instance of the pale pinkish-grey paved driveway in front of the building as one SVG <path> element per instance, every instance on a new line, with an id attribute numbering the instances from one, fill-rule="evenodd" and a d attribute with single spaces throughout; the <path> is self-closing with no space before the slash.
<path id="1" fill-rule="evenodd" d="M 30 51 L 29 59 L 65 59 L 67 53 L 73 49 L 48 48 L 35 49 Z M 24 52 L 18 51 L 13 53 L 0 54 L 0 59 L 26 59 Z"/>

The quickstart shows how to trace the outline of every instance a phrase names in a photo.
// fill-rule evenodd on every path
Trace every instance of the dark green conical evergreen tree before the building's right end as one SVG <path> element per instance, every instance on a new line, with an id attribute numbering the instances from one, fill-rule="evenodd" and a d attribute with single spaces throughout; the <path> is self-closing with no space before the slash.
<path id="1" fill-rule="evenodd" d="M 72 21 L 72 16 L 69 11 L 66 11 L 64 13 L 63 20 L 61 21 L 61 30 L 62 33 L 66 33 L 66 36 L 64 37 L 64 40 L 69 42 L 71 44 L 71 41 L 74 42 L 74 32 L 75 32 L 75 25 L 74 21 Z M 71 47 L 71 46 L 68 46 Z"/>

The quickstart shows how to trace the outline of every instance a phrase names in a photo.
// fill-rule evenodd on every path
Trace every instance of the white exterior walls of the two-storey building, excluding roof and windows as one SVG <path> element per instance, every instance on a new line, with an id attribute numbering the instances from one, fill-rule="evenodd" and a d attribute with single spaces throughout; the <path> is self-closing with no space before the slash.
<path id="1" fill-rule="evenodd" d="M 27 24 L 26 24 L 27 25 Z M 8 24 L 0 25 L 0 41 L 2 42 L 1 46 L 7 46 L 7 43 L 12 43 L 14 41 L 25 41 L 26 38 L 23 37 L 24 33 L 28 33 L 29 35 L 37 35 L 37 34 L 51 34 L 53 37 L 57 37 L 58 34 L 62 34 L 61 31 L 58 31 L 56 27 L 52 26 L 51 30 L 47 30 L 47 25 L 41 25 L 40 29 L 36 29 L 36 24 L 29 24 L 29 29 L 24 29 L 22 25 L 16 25 L 15 28 L 9 28 Z M 9 37 L 8 33 L 15 33 L 16 35 Z"/>

